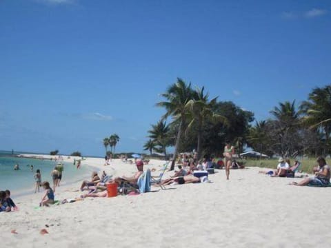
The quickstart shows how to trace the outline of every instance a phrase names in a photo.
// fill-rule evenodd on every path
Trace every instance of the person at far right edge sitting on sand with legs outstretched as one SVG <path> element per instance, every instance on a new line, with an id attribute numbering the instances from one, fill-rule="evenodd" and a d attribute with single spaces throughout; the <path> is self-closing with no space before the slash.
<path id="1" fill-rule="evenodd" d="M 325 158 L 317 158 L 318 167 L 314 168 L 315 175 L 310 178 L 305 178 L 301 182 L 292 182 L 291 185 L 296 186 L 315 186 L 328 187 L 330 185 L 330 166 L 326 164 Z"/>

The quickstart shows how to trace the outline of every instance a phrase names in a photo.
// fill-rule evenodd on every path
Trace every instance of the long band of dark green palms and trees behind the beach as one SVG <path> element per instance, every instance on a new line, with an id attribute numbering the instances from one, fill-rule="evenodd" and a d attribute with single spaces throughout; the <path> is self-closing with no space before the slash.
<path id="1" fill-rule="evenodd" d="M 314 88 L 298 110 L 295 100 L 279 103 L 270 118 L 254 125 L 253 112 L 232 101 L 209 99 L 204 87 L 193 89 L 182 79 L 161 96 L 164 101 L 156 105 L 163 107 L 165 114 L 151 125 L 144 149 L 167 156 L 166 148 L 174 146 L 171 169 L 179 152 L 196 149 L 198 158 L 219 155 L 225 141 L 235 145 L 239 153 L 250 146 L 269 156 L 330 154 L 331 85 Z"/>

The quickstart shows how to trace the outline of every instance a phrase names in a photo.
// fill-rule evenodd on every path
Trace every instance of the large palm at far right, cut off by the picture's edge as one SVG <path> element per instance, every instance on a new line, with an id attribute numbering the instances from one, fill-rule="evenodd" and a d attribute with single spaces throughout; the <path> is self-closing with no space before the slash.
<path id="1" fill-rule="evenodd" d="M 321 129 L 325 135 L 324 153 L 328 149 L 329 138 L 331 134 L 331 85 L 323 88 L 316 87 L 308 96 L 308 101 L 301 103 L 303 123 L 312 129 Z"/>

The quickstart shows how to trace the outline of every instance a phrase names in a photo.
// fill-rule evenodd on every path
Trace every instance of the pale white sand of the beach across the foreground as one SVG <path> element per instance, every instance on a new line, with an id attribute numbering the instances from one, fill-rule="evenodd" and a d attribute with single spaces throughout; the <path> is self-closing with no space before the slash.
<path id="1" fill-rule="evenodd" d="M 136 171 L 119 159 L 103 163 L 87 158 L 82 166 L 114 176 Z M 157 176 L 163 163 L 150 161 L 145 169 L 157 169 L 152 173 Z M 217 170 L 210 175 L 213 183 L 152 187 L 159 191 L 41 209 L 35 207 L 43 193 L 14 198 L 19 211 L 0 214 L 1 246 L 330 247 L 331 188 L 290 186 L 292 178 L 270 178 L 259 170 L 232 170 L 228 181 L 224 170 Z M 80 196 L 77 189 L 79 184 L 59 187 L 55 198 Z M 39 234 L 41 229 L 48 234 Z"/>

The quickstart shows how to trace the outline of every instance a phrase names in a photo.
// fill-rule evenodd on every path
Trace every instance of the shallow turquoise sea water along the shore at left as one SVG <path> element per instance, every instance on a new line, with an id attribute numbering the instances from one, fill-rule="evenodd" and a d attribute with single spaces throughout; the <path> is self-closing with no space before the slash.
<path id="1" fill-rule="evenodd" d="M 41 180 L 48 180 L 52 185 L 50 172 L 58 162 L 36 158 L 18 158 L 11 152 L 0 151 L 0 190 L 10 189 L 12 196 L 21 196 L 34 193 L 34 174 L 37 169 L 41 171 Z M 14 165 L 19 165 L 19 170 L 14 170 Z M 30 165 L 33 165 L 31 171 Z M 89 178 L 92 167 L 77 169 L 72 163 L 63 163 L 61 186 Z"/>

